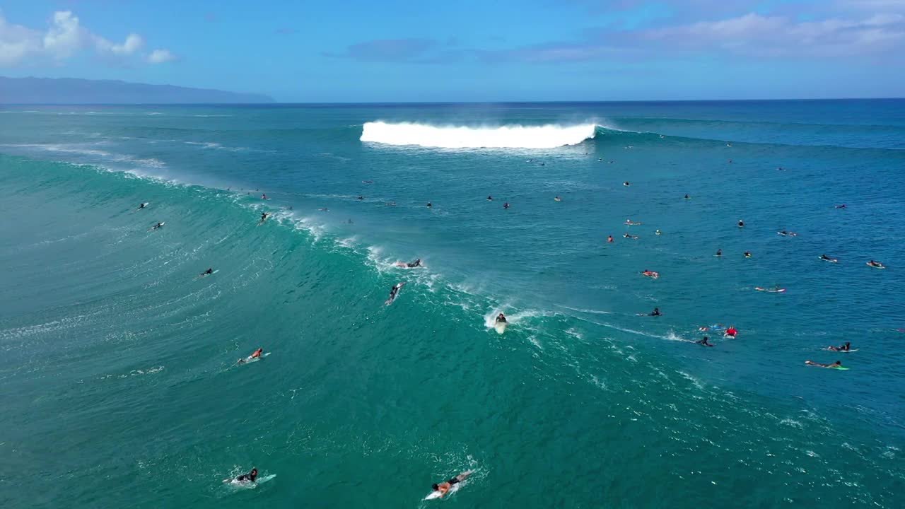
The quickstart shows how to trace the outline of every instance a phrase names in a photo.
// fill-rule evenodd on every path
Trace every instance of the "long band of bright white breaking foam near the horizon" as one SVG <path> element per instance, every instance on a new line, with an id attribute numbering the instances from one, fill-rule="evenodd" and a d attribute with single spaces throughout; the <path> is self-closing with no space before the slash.
<path id="1" fill-rule="evenodd" d="M 555 149 L 594 138 L 596 124 L 436 126 L 413 122 L 366 122 L 362 141 L 437 149 Z"/>

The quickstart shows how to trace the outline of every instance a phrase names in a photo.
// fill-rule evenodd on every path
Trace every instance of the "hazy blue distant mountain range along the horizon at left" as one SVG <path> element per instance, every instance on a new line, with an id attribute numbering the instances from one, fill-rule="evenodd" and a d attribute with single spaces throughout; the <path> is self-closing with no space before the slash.
<path id="1" fill-rule="evenodd" d="M 186 104 L 273 102 L 257 93 L 190 89 L 113 80 L 73 78 L 5 78 L 0 76 L 0 104 Z"/>

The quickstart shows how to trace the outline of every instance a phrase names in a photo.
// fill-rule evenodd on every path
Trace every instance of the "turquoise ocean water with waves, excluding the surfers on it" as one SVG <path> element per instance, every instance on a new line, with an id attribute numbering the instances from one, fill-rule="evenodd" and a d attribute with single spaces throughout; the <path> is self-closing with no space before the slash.
<path id="1" fill-rule="evenodd" d="M 905 505 L 905 101 L 0 110 L 4 507 Z"/>

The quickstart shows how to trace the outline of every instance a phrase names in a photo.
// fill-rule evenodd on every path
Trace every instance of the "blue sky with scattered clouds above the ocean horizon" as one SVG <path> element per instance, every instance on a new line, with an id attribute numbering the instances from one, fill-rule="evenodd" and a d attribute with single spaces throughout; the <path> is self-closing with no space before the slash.
<path id="1" fill-rule="evenodd" d="M 0 75 L 306 102 L 903 97 L 905 0 L 13 0 Z"/>

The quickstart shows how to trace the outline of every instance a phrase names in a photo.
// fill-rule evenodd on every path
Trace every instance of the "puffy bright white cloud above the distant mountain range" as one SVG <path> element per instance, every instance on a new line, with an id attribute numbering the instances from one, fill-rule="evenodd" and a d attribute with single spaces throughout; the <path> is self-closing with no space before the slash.
<path id="1" fill-rule="evenodd" d="M 53 13 L 46 31 L 11 24 L 0 14 L 0 67 L 14 67 L 42 59 L 62 62 L 81 52 L 92 52 L 107 59 L 123 60 L 145 45 L 139 34 L 129 34 L 122 43 L 93 34 L 82 26 L 71 11 Z M 168 50 L 155 50 L 148 62 L 168 62 L 175 57 Z"/>

